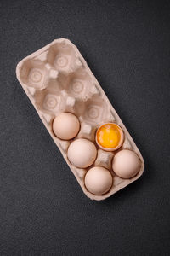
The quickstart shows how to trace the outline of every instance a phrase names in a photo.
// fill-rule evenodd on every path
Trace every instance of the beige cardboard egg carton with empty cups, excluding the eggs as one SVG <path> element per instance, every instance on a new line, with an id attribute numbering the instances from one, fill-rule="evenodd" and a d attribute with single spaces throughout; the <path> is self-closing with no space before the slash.
<path id="1" fill-rule="evenodd" d="M 54 139 L 54 143 L 77 178 L 77 182 L 90 199 L 104 200 L 142 175 L 144 160 L 139 149 L 111 102 L 105 96 L 104 90 L 89 69 L 87 62 L 70 40 L 56 39 L 51 44 L 27 56 L 17 65 L 16 75 L 43 124 Z M 63 112 L 74 113 L 81 124 L 77 137 L 70 141 L 59 139 L 54 135 L 52 129 L 54 117 Z M 117 177 L 111 169 L 111 161 L 117 151 L 106 152 L 95 143 L 95 132 L 99 125 L 105 122 L 114 122 L 122 127 L 124 142 L 117 151 L 130 149 L 139 155 L 141 166 L 135 177 L 129 179 Z M 68 160 L 67 149 L 70 143 L 77 138 L 87 138 L 95 143 L 98 154 L 93 166 L 103 166 L 112 174 L 113 184 L 105 195 L 94 195 L 86 189 L 84 177 L 88 169 L 93 166 L 80 169 L 71 165 Z"/>

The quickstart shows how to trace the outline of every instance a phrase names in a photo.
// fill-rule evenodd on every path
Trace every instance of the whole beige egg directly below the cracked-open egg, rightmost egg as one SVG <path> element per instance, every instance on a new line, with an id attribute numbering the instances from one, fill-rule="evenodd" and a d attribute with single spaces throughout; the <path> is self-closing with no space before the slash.
<path id="1" fill-rule="evenodd" d="M 141 166 L 139 156 L 131 150 L 119 151 L 112 162 L 113 171 L 122 178 L 134 177 Z"/>

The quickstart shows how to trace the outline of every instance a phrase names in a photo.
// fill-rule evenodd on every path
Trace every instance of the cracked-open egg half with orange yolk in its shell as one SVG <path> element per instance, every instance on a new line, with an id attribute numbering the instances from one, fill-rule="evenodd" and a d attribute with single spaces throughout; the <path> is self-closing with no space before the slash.
<path id="1" fill-rule="evenodd" d="M 122 129 L 116 124 L 101 125 L 96 139 L 103 148 L 116 148 L 122 140 Z"/>

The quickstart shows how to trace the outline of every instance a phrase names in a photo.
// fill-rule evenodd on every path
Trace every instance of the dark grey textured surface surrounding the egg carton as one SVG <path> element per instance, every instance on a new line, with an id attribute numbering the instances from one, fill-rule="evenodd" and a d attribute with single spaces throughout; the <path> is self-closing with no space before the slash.
<path id="1" fill-rule="evenodd" d="M 0 2 L 0 255 L 170 254 L 169 1 Z M 54 38 L 77 44 L 145 160 L 90 201 L 15 77 Z"/>

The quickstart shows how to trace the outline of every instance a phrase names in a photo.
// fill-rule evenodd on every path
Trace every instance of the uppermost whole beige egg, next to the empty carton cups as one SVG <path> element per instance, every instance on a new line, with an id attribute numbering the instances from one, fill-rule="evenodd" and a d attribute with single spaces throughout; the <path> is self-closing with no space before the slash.
<path id="1" fill-rule="evenodd" d="M 80 122 L 73 113 L 60 113 L 54 119 L 54 134 L 63 140 L 70 140 L 77 136 L 80 130 Z"/>

